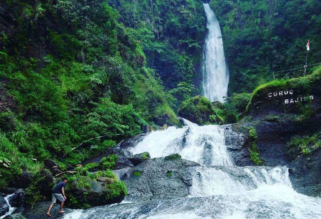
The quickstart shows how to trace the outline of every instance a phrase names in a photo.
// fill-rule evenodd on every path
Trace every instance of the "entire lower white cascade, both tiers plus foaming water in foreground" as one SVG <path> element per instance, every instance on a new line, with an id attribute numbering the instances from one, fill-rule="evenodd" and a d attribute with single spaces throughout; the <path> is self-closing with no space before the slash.
<path id="1" fill-rule="evenodd" d="M 296 192 L 286 166 L 234 165 L 220 126 L 198 126 L 185 120 L 146 135 L 131 150 L 152 158 L 179 153 L 193 166 L 187 197 L 152 199 L 74 210 L 65 219 L 243 219 L 321 218 L 321 199 Z M 130 191 L 129 191 L 130 192 Z M 175 192 L 175 188 L 173 188 Z"/>

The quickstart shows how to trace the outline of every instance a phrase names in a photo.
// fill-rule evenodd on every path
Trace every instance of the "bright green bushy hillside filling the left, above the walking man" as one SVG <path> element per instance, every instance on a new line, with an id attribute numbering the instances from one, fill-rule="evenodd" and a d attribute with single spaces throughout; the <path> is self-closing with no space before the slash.
<path id="1" fill-rule="evenodd" d="M 149 28 L 125 27 L 101 0 L 6 1 L 2 9 L 0 92 L 10 107 L 0 108 L 0 157 L 15 169 L 37 172 L 47 158 L 76 165 L 158 116 L 177 122 L 175 98 L 145 66 Z"/>

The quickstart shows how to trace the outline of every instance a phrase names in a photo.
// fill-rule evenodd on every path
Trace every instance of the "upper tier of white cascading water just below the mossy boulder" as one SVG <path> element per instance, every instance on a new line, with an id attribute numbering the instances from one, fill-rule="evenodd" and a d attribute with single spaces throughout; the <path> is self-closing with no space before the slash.
<path id="1" fill-rule="evenodd" d="M 198 126 L 184 120 L 183 128 L 169 127 L 146 136 L 132 149 L 134 154 L 149 152 L 151 157 L 179 153 L 182 158 L 206 165 L 232 165 L 225 146 L 223 129 L 219 126 Z"/>

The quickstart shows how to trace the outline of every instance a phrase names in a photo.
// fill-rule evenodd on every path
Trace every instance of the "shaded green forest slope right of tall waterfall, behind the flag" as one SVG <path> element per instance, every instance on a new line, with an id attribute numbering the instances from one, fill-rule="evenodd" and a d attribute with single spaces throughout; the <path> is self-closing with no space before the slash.
<path id="1" fill-rule="evenodd" d="M 320 1 L 211 0 L 210 6 L 222 29 L 230 92 L 252 92 L 273 80 L 271 72 L 302 67 L 308 39 L 308 63 L 320 62 Z M 279 72 L 275 77 L 289 74 Z"/>

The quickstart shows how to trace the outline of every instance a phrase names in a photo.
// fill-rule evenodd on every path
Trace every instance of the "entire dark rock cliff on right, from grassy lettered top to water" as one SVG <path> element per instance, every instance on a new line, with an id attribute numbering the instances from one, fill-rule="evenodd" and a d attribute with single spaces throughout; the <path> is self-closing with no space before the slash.
<path id="1" fill-rule="evenodd" d="M 293 187 L 310 196 L 321 192 L 320 73 L 259 87 L 247 106 L 247 117 L 231 126 L 245 134 L 254 127 L 264 164 L 287 165 Z"/>

